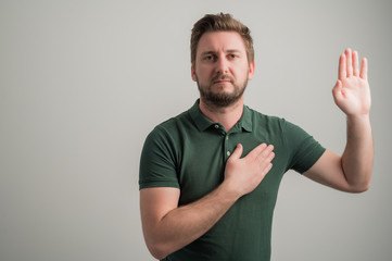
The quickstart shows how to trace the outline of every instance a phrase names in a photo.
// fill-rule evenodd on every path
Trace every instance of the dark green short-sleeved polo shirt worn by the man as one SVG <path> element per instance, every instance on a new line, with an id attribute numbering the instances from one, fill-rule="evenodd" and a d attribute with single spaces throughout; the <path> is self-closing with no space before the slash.
<path id="1" fill-rule="evenodd" d="M 270 260 L 280 181 L 290 169 L 307 171 L 325 149 L 299 126 L 245 105 L 241 120 L 227 133 L 222 124 L 202 114 L 199 101 L 149 134 L 141 153 L 139 187 L 179 188 L 179 206 L 202 198 L 223 182 L 226 161 L 237 144 L 243 146 L 244 157 L 262 142 L 274 145 L 276 154 L 262 183 L 207 233 L 165 260 Z"/>

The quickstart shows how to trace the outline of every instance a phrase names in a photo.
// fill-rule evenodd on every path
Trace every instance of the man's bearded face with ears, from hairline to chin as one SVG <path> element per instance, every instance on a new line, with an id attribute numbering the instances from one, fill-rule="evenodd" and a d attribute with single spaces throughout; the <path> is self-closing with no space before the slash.
<path id="1" fill-rule="evenodd" d="M 199 41 L 192 79 L 201 100 L 214 107 L 228 107 L 243 95 L 254 75 L 241 36 L 236 32 L 205 33 Z"/>

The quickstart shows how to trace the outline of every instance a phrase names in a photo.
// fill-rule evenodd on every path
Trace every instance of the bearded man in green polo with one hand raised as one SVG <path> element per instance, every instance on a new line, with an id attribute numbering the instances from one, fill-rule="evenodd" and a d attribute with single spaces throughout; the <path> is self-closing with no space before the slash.
<path id="1" fill-rule="evenodd" d="M 349 192 L 369 187 L 372 137 L 367 61 L 350 49 L 333 87 L 346 114 L 339 157 L 302 128 L 243 104 L 254 75 L 250 30 L 229 14 L 205 15 L 191 36 L 200 99 L 154 128 L 140 161 L 140 210 L 151 253 L 161 260 L 269 260 L 271 220 L 292 169 Z"/>

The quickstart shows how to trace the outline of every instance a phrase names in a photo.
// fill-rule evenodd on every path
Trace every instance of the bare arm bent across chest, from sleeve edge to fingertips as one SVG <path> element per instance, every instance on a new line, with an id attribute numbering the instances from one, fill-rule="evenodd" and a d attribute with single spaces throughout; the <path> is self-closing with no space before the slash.
<path id="1" fill-rule="evenodd" d="M 243 195 L 253 191 L 271 169 L 274 147 L 265 144 L 241 159 L 238 145 L 226 163 L 225 181 L 203 198 L 178 207 L 178 188 L 140 190 L 140 212 L 146 244 L 156 259 L 189 245 L 218 222 Z"/>

